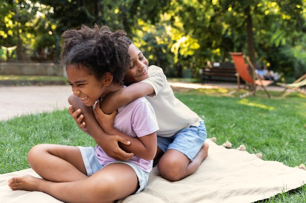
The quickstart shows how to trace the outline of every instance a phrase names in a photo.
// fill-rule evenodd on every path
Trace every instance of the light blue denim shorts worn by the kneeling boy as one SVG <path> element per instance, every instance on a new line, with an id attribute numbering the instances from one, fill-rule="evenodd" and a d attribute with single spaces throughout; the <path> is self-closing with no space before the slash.
<path id="1" fill-rule="evenodd" d="M 163 152 L 167 151 L 167 149 L 175 149 L 185 154 L 190 161 L 193 161 L 205 140 L 206 128 L 204 122 L 201 121 L 199 126 L 181 129 L 171 137 L 157 135 L 157 146 Z"/>

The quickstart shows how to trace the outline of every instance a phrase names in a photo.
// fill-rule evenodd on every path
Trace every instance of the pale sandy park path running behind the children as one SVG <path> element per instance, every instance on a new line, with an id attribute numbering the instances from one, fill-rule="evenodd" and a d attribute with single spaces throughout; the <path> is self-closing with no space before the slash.
<path id="1" fill-rule="evenodd" d="M 237 88 L 236 84 L 195 84 L 169 81 L 177 88 L 215 89 Z M 269 90 L 279 91 L 279 87 L 269 87 Z M 31 113 L 42 113 L 54 110 L 68 109 L 67 98 L 72 93 L 71 87 L 63 86 L 13 86 L 0 87 L 0 120 Z"/>

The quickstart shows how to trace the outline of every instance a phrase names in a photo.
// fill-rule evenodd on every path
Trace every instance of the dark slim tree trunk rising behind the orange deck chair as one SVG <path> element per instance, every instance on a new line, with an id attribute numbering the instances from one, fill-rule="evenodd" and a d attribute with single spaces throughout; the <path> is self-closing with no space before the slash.
<path id="1" fill-rule="evenodd" d="M 252 17 L 251 17 L 251 13 L 250 13 L 250 6 L 248 6 L 244 9 L 244 14 L 246 15 L 247 41 L 248 41 L 248 52 L 249 52 L 248 55 L 250 57 L 251 63 L 255 67 L 256 59 L 255 59 L 254 36 L 253 36 L 253 31 L 252 31 L 253 23 L 252 23 Z M 252 75 L 252 77 L 254 79 L 253 71 L 251 71 L 250 74 Z M 251 86 L 251 89 L 255 90 L 255 88 L 256 88 L 256 85 L 253 84 Z"/>

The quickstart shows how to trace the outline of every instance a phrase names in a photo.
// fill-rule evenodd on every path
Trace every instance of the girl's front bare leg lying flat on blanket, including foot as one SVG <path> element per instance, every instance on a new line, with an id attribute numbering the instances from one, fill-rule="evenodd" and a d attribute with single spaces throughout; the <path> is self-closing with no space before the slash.
<path id="1" fill-rule="evenodd" d="M 76 182 L 54 183 L 26 175 L 9 179 L 8 185 L 12 190 L 44 192 L 66 203 L 108 203 L 133 194 L 138 179 L 131 166 L 113 163 Z"/>

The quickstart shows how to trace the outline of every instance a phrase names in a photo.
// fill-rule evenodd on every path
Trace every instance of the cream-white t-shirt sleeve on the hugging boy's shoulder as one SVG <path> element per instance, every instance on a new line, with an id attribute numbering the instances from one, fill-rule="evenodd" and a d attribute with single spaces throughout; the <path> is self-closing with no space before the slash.
<path id="1" fill-rule="evenodd" d="M 155 97 L 165 86 L 167 82 L 166 75 L 164 74 L 163 70 L 157 66 L 150 66 L 149 67 L 149 78 L 141 81 L 148 83 L 154 89 L 155 94 L 148 95 L 150 97 Z"/>

